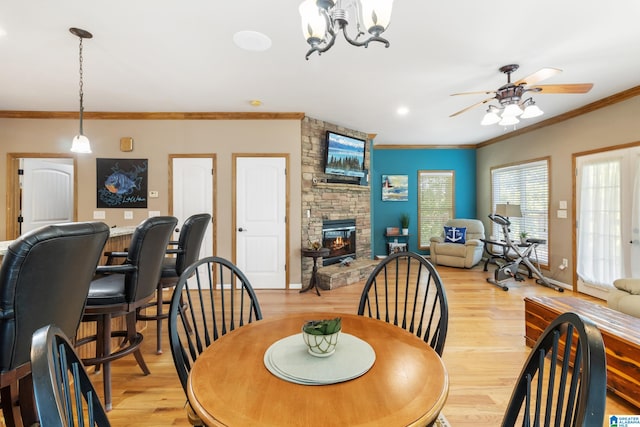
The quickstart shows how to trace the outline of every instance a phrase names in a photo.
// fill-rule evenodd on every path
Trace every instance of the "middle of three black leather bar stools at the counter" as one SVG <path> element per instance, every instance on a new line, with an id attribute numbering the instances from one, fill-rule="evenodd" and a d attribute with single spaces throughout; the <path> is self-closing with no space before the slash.
<path id="1" fill-rule="evenodd" d="M 95 322 L 96 334 L 79 337 L 76 347 L 95 342 L 95 357 L 83 359 L 87 366 L 95 366 L 96 371 L 104 369 L 105 408 L 110 411 L 111 402 L 111 362 L 133 353 L 136 362 L 145 375 L 147 368 L 140 344 L 143 335 L 136 329 L 136 312 L 153 298 L 156 291 L 162 260 L 167 243 L 178 220 L 172 216 L 156 216 L 140 223 L 133 235 L 124 264 L 99 266 L 99 277 L 91 281 L 83 322 Z M 112 331 L 111 321 L 124 317 L 125 329 Z M 115 350 L 111 339 L 121 339 Z"/>

